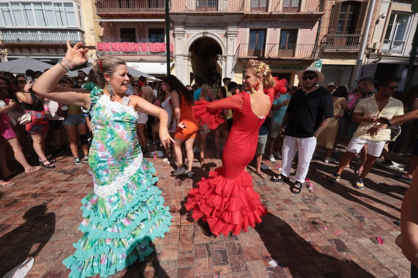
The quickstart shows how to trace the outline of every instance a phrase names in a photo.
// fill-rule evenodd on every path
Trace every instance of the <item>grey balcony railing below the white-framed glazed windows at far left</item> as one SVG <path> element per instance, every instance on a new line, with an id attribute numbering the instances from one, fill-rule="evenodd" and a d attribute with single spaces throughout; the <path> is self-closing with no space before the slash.
<path id="1" fill-rule="evenodd" d="M 65 44 L 84 42 L 84 32 L 80 30 L 36 30 L 0 29 L 2 44 Z"/>

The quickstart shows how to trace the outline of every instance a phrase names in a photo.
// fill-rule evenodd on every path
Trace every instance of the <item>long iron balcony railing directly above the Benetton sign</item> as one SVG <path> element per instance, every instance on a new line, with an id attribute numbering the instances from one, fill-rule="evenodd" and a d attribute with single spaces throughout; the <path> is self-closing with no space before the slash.
<path id="1" fill-rule="evenodd" d="M 319 52 L 319 46 L 314 44 L 241 43 L 235 57 L 315 60 L 319 57 Z"/>

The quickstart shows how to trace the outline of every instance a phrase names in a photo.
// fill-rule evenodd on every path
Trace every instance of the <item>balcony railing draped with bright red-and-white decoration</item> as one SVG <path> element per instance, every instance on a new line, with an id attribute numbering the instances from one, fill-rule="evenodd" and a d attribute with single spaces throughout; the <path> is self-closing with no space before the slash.
<path id="1" fill-rule="evenodd" d="M 119 42 L 103 42 L 97 43 L 96 49 L 99 55 L 151 55 L 165 56 L 166 43 L 150 43 L 140 42 L 124 42 L 121 38 Z M 173 45 L 170 44 L 170 55 L 174 53 Z"/>

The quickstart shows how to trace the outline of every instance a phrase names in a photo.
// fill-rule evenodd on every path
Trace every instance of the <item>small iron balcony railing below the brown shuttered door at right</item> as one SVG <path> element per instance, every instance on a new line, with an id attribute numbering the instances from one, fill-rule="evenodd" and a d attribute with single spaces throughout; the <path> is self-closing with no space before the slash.
<path id="1" fill-rule="evenodd" d="M 322 51 L 357 51 L 361 34 L 327 34 L 321 40 Z"/>

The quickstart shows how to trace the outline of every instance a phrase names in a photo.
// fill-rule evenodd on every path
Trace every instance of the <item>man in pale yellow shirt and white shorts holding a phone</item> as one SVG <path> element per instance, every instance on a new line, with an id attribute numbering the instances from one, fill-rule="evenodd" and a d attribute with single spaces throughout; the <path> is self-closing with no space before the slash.
<path id="1" fill-rule="evenodd" d="M 395 76 L 380 78 L 377 93 L 357 103 L 352 120 L 359 123 L 359 127 L 347 145 L 347 151 L 340 160 L 337 172 L 329 176 L 330 180 L 339 181 L 341 173 L 349 161 L 367 144 L 367 156 L 363 171 L 355 181 L 356 188 L 364 188 L 364 178 L 375 165 L 376 158 L 382 153 L 386 141 L 390 140 L 390 129 L 382 130 L 377 135 L 370 135 L 367 132 L 380 120 L 403 115 L 403 103 L 392 97 L 398 89 L 400 80 Z"/>

